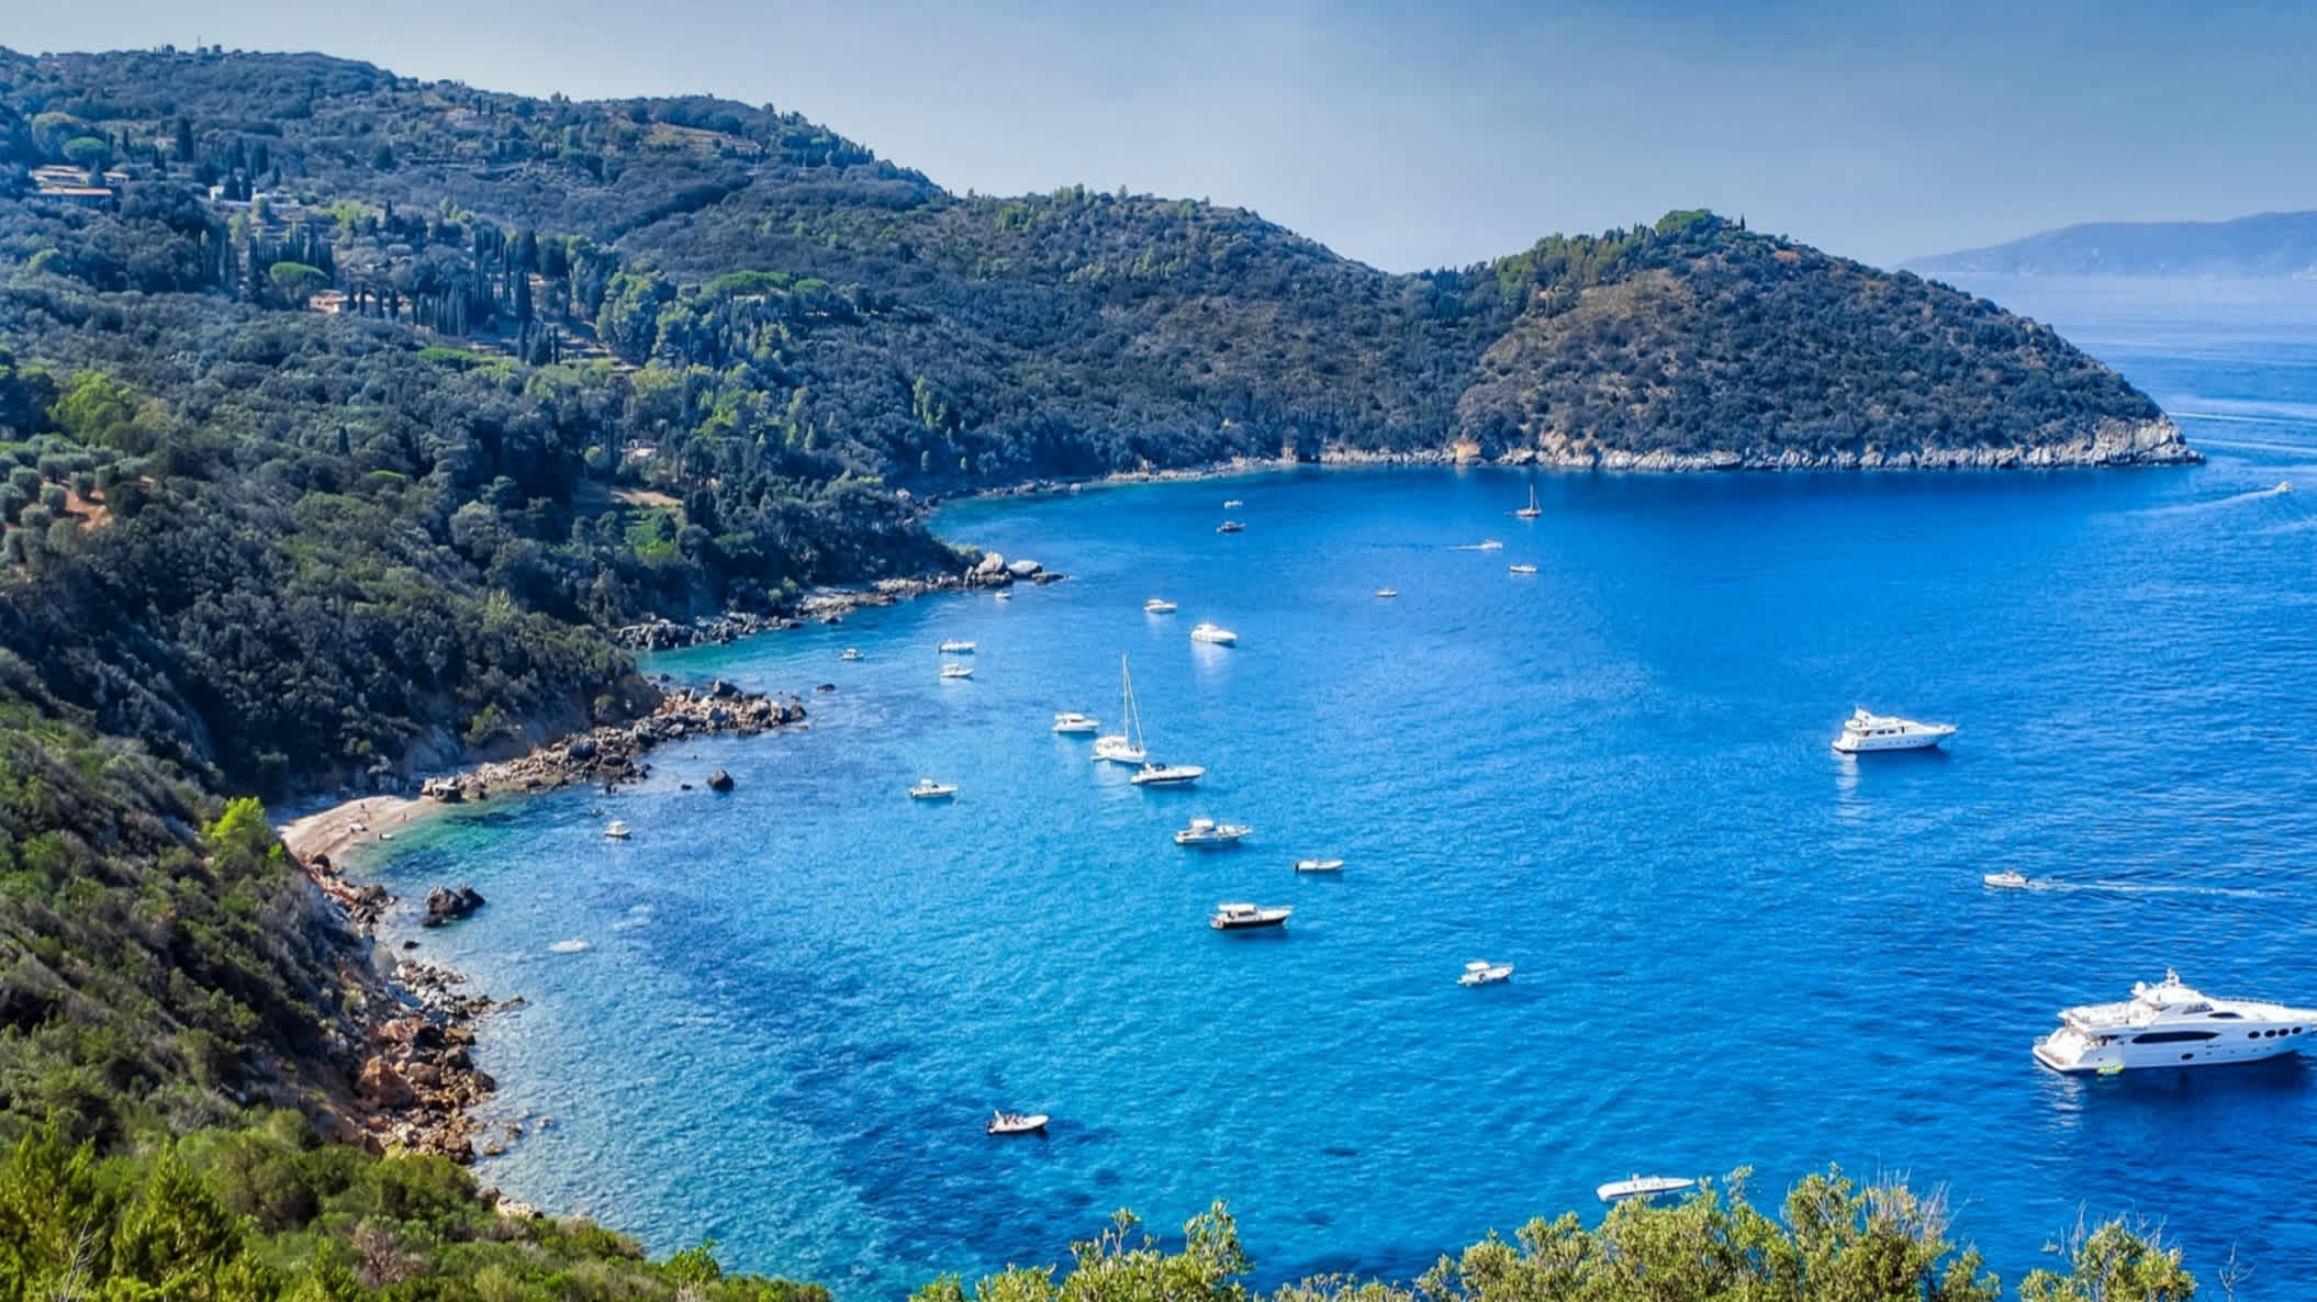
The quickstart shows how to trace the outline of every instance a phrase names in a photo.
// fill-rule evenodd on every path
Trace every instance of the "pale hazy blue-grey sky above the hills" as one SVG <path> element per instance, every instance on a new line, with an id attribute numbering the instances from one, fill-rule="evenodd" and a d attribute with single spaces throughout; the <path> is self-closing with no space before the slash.
<path id="1" fill-rule="evenodd" d="M 72 0 L 21 51 L 320 49 L 772 102 L 952 190 L 1240 204 L 1406 271 L 1712 206 L 1891 264 L 2317 209 L 2317 5 Z"/>

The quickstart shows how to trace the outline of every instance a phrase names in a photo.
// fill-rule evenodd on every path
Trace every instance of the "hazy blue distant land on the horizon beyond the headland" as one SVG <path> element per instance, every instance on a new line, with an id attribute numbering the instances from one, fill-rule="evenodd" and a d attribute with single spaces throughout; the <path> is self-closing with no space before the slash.
<path id="1" fill-rule="evenodd" d="M 2317 280 L 2317 213 L 2257 213 L 2229 222 L 2085 222 L 1918 257 L 1907 269 L 1923 276 Z"/>

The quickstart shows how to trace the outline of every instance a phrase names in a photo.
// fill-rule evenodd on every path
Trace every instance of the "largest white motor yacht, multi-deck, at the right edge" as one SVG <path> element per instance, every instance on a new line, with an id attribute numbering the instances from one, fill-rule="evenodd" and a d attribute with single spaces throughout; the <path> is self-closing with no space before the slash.
<path id="1" fill-rule="evenodd" d="M 2317 1008 L 2206 996 L 2166 971 L 2157 985 L 2134 982 L 2125 1003 L 2060 1010 L 2060 1029 L 2034 1043 L 2034 1061 L 2099 1075 L 2250 1063 L 2298 1052 L 2310 1031 Z"/>

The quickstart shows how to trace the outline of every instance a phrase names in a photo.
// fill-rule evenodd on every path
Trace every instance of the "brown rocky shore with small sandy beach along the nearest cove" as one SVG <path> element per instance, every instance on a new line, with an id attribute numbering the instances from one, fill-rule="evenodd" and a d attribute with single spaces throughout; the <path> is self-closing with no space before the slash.
<path id="1" fill-rule="evenodd" d="M 385 968 L 378 924 L 396 897 L 378 883 L 352 880 L 345 871 L 350 846 L 408 829 L 415 818 L 452 804 L 494 795 L 549 792 L 568 785 L 642 781 L 651 774 L 644 755 L 653 746 L 695 737 L 753 737 L 804 725 L 795 697 L 746 693 L 732 683 L 674 688 L 658 707 L 630 723 L 612 723 L 565 737 L 538 751 L 426 778 L 417 799 L 364 797 L 301 818 L 283 829 L 283 846 L 313 885 L 343 913 L 364 945 L 359 968 L 348 980 L 359 989 L 359 1049 L 350 1054 L 348 1098 L 338 1117 L 345 1135 L 373 1149 L 438 1154 L 459 1163 L 505 1151 L 526 1128 L 551 1126 L 551 1117 L 505 1119 L 484 1126 L 475 1110 L 498 1089 L 475 1066 L 477 1022 L 498 1010 L 521 1008 L 517 999 L 489 999 L 466 989 L 466 975 L 401 954 Z M 732 778 L 718 769 L 707 788 L 723 792 Z M 375 820 L 375 827 L 373 827 Z M 484 906 L 470 885 L 436 887 L 422 927 L 452 924 Z M 403 941 L 403 950 L 417 941 Z M 385 971 L 382 971 L 385 968 Z M 510 1209 L 514 1205 L 500 1205 Z"/>

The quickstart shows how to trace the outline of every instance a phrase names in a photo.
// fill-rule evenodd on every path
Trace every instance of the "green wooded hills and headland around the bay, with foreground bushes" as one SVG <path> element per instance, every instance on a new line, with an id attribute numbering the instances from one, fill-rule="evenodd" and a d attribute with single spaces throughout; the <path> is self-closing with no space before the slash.
<path id="1" fill-rule="evenodd" d="M 934 496 L 1281 456 L 2192 454 L 2051 329 L 1703 211 L 1390 276 L 1207 202 L 952 195 L 772 107 L 0 51 L 0 1288 L 813 1297 L 327 1142 L 394 996 L 229 797 L 649 709 L 612 628 L 955 570 Z M 1916 1263 L 1842 1297 L 1983 1295 L 1932 1221 L 1830 1198 L 1791 1244 L 1684 1214 L 1766 1297 L 1835 1295 L 1786 1265 L 1835 1221 Z M 1186 1270 L 1135 1251 L 1070 1288 Z M 1474 1251 L 1455 1288 L 1508 1295 Z"/>

